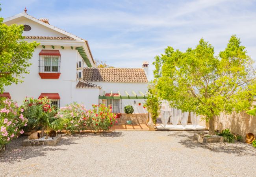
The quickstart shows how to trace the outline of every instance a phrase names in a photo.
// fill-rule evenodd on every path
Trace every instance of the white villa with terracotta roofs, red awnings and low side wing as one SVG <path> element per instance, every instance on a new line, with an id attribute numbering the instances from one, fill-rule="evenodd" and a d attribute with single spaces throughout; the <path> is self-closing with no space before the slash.
<path id="1" fill-rule="evenodd" d="M 40 45 L 35 48 L 24 82 L 5 87 L 1 96 L 20 104 L 25 96 L 48 96 L 59 107 L 76 101 L 87 109 L 105 103 L 116 113 L 124 113 L 123 107 L 132 105 L 135 114 L 148 117 L 143 108 L 148 93 L 148 62 L 143 62 L 142 68 L 96 68 L 88 42 L 50 25 L 46 18 L 37 19 L 25 11 L 6 18 L 4 23 L 23 24 L 24 40 Z"/>

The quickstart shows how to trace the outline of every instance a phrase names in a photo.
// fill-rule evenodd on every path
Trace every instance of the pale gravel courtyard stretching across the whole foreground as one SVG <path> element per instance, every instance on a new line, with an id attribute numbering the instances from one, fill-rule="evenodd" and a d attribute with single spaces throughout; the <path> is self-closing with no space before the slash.
<path id="1" fill-rule="evenodd" d="M 0 176 L 255 176 L 256 149 L 200 144 L 193 131 L 119 131 L 63 136 L 58 146 L 0 153 Z"/>

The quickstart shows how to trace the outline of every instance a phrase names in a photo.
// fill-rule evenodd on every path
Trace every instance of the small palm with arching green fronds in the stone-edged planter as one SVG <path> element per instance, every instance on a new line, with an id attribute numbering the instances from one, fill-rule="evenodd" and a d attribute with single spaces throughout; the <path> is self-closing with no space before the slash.
<path id="1" fill-rule="evenodd" d="M 56 109 L 54 106 L 45 109 L 43 105 L 33 105 L 28 115 L 28 126 L 41 127 L 41 137 L 44 137 L 44 131 L 49 129 L 63 129 L 69 121 L 67 118 L 56 118 Z M 46 139 L 48 134 L 46 133 Z"/>

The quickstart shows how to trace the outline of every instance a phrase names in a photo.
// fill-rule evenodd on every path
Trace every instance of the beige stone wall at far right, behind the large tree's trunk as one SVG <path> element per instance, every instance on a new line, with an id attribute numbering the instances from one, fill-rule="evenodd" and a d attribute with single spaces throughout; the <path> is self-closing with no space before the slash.
<path id="1" fill-rule="evenodd" d="M 230 115 L 221 114 L 214 118 L 215 129 L 230 129 L 232 133 L 236 133 L 243 137 L 247 133 L 256 135 L 256 116 L 249 116 L 245 112 L 233 112 Z"/>

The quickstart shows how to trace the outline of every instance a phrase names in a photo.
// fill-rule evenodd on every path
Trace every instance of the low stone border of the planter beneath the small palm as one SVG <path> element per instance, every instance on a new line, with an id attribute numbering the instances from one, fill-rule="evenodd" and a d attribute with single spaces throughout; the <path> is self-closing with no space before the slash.
<path id="1" fill-rule="evenodd" d="M 49 137 L 50 138 L 50 137 Z M 61 135 L 57 135 L 54 140 L 29 140 L 28 138 L 23 140 L 22 146 L 56 146 L 56 144 L 61 140 Z"/>

